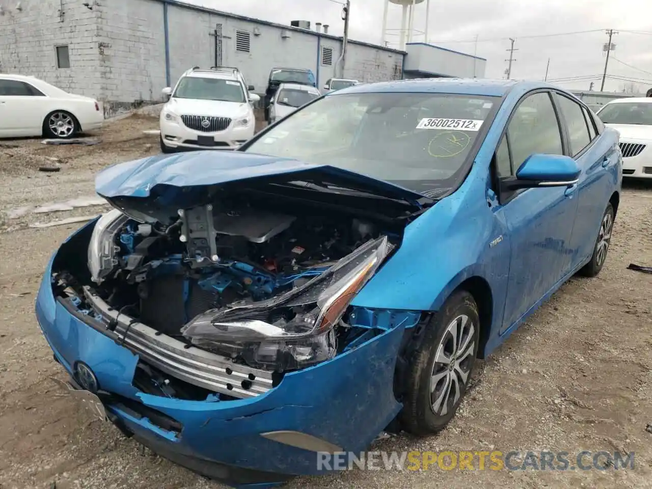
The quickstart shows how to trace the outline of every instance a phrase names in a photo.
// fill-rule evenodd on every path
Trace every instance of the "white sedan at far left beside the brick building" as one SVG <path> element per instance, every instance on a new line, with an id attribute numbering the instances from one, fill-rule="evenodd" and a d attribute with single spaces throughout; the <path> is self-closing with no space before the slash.
<path id="1" fill-rule="evenodd" d="M 97 100 L 72 95 L 33 76 L 0 74 L 0 138 L 65 139 L 100 128 Z"/>

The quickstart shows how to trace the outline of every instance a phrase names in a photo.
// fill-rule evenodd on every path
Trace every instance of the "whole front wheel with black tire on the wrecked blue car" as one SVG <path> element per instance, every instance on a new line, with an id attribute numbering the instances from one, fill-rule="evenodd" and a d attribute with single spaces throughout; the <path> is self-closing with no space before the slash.
<path id="1" fill-rule="evenodd" d="M 404 430 L 417 436 L 443 429 L 466 394 L 480 331 L 473 296 L 464 290 L 451 295 L 426 328 L 408 369 L 399 414 Z"/>

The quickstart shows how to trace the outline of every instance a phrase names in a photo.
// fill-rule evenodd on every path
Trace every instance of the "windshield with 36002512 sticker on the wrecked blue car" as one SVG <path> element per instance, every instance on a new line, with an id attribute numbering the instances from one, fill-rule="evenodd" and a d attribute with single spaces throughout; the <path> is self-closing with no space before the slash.
<path id="1" fill-rule="evenodd" d="M 450 188 L 497 97 L 360 93 L 321 98 L 245 151 L 327 164 L 417 192 Z"/>

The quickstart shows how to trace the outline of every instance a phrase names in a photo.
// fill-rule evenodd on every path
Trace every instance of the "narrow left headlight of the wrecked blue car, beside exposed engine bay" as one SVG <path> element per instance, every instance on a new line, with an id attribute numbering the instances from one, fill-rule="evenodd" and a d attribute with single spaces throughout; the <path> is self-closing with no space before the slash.
<path id="1" fill-rule="evenodd" d="M 128 219 L 126 215 L 113 209 L 95 223 L 88 245 L 88 269 L 91 272 L 91 280 L 96 284 L 100 284 L 118 264 L 117 254 L 120 247 L 115 244 L 115 234 Z"/>

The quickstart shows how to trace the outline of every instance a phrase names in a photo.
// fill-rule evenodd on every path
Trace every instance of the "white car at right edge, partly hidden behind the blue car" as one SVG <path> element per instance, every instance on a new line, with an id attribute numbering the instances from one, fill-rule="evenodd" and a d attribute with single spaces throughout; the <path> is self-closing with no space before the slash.
<path id="1" fill-rule="evenodd" d="M 652 98 L 619 98 L 598 117 L 620 133 L 623 177 L 652 178 Z"/>

